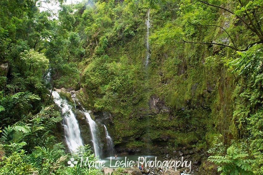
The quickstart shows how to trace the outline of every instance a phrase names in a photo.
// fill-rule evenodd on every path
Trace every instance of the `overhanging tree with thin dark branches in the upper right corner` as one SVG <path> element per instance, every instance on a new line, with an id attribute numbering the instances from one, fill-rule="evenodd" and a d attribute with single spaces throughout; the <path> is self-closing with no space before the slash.
<path id="1" fill-rule="evenodd" d="M 240 20 L 243 27 L 244 27 L 244 30 L 248 29 L 252 35 L 255 34 L 257 36 L 257 38 L 255 38 L 254 40 L 257 40 L 257 41 L 252 41 L 245 46 L 243 46 L 243 45 L 239 46 L 235 42 L 235 40 L 232 39 L 235 37 L 236 34 L 233 32 L 232 32 L 233 34 L 227 32 L 227 30 L 224 27 L 221 27 L 221 26 L 216 25 L 216 24 L 210 24 L 210 23 L 199 23 L 196 21 L 189 22 L 189 20 L 188 20 L 188 23 L 190 23 L 192 26 L 195 26 L 196 28 L 201 28 L 201 27 L 205 27 L 205 26 L 219 27 L 220 29 L 222 29 L 227 34 L 228 38 L 230 38 L 231 44 L 207 42 L 207 41 L 189 41 L 183 37 L 180 37 L 180 39 L 176 39 L 177 43 L 214 44 L 214 45 L 225 46 L 225 47 L 231 48 L 231 49 L 236 50 L 236 51 L 246 51 L 246 50 L 248 50 L 248 48 L 250 48 L 251 46 L 253 46 L 255 44 L 263 43 L 263 30 L 261 28 L 263 23 L 260 20 L 262 18 L 262 8 L 261 8 L 263 5 L 262 1 L 257 1 L 257 0 L 248 1 L 248 0 L 246 0 L 244 2 L 241 2 L 241 0 L 238 0 L 238 2 L 236 2 L 236 1 L 232 2 L 235 4 L 234 5 L 235 7 L 231 8 L 231 5 L 229 5 L 225 2 L 218 2 L 221 5 L 217 5 L 217 4 L 213 4 L 213 2 L 210 3 L 210 1 L 198 0 L 196 2 L 192 2 L 192 4 L 190 6 L 195 5 L 196 9 L 198 9 L 200 3 L 206 5 L 207 7 L 209 7 L 209 6 L 214 7 L 214 8 L 217 8 L 219 10 L 224 10 L 227 13 L 230 13 L 230 15 L 232 15 L 232 19 L 235 20 L 235 22 L 234 22 L 235 25 Z M 226 5 L 229 8 L 223 7 L 222 4 Z M 187 6 L 187 5 L 185 5 L 185 6 Z M 233 30 L 233 28 L 231 28 L 231 30 Z"/>

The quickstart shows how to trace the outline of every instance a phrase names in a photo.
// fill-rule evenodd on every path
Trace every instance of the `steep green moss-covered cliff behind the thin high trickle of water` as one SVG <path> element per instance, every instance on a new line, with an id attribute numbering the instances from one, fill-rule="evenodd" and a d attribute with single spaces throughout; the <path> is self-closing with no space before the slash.
<path id="1" fill-rule="evenodd" d="M 208 149 L 218 138 L 229 145 L 250 135 L 246 117 L 255 110 L 243 106 L 240 114 L 237 106 L 250 101 L 244 93 L 251 72 L 242 71 L 253 68 L 240 56 L 261 48 L 262 31 L 253 28 L 256 15 L 240 3 L 106 5 L 118 17 L 91 36 L 87 58 L 80 63 L 81 87 L 85 104 L 113 119 L 108 125 L 119 151 L 147 152 L 155 145 Z M 148 8 L 150 57 L 145 67 Z M 240 10 L 246 15 L 240 17 Z M 111 16 L 98 7 L 94 11 Z M 259 94 L 254 94 L 256 106 Z"/>

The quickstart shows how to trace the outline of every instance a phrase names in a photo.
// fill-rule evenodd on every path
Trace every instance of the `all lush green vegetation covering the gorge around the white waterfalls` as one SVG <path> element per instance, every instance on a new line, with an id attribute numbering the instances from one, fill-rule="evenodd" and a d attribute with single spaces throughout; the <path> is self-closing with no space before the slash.
<path id="1" fill-rule="evenodd" d="M 263 173 L 261 0 L 53 0 L 56 14 L 40 12 L 45 2 L 0 3 L 2 174 L 97 173 L 64 166 L 77 156 L 62 144 L 54 88 L 111 114 L 119 147 L 211 148 L 225 174 Z"/>

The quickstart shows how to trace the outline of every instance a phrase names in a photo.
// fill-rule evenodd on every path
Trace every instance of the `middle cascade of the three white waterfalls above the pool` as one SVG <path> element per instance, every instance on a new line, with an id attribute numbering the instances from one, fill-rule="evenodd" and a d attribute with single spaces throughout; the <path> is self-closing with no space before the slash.
<path id="1" fill-rule="evenodd" d="M 88 121 L 89 124 L 89 129 L 90 129 L 90 134 L 91 134 L 91 138 L 92 138 L 92 143 L 93 143 L 93 149 L 94 149 L 94 154 L 95 156 L 100 156 L 101 153 L 101 145 L 99 140 L 97 139 L 97 124 L 95 123 L 95 121 L 90 117 L 89 113 L 86 111 L 84 112 L 86 119 Z"/>

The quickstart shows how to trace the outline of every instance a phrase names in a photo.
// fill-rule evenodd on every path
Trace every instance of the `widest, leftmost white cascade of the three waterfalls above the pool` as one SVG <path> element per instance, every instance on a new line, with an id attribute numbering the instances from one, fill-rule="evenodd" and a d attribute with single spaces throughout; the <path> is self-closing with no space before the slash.
<path id="1" fill-rule="evenodd" d="M 80 136 L 80 128 L 75 114 L 71 110 L 71 106 L 66 100 L 60 98 L 58 92 L 53 91 L 52 96 L 54 102 L 61 108 L 63 115 L 63 126 L 65 129 L 65 138 L 67 146 L 71 152 L 75 151 L 79 146 L 83 146 Z"/>

